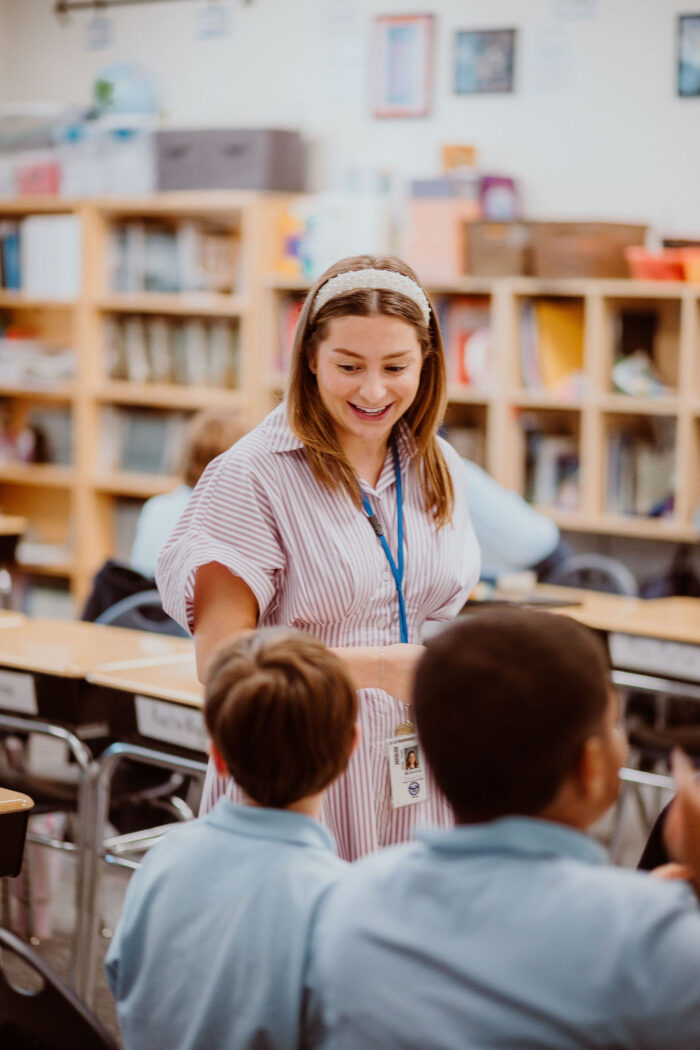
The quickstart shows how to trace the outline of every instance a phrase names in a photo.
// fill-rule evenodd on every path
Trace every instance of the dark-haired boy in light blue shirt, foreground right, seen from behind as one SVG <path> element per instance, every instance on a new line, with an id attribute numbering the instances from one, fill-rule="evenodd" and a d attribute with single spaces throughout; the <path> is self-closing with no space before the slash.
<path id="1" fill-rule="evenodd" d="M 601 642 L 545 612 L 460 620 L 428 643 L 413 707 L 457 826 L 359 861 L 328 894 L 315 1045 L 698 1050 L 694 892 L 607 866 L 584 834 L 624 754 Z"/>

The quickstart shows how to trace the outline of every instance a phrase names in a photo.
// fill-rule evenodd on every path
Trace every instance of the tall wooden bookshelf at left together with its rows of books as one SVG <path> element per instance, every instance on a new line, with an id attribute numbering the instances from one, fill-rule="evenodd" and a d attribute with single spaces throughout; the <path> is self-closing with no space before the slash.
<path id="1" fill-rule="evenodd" d="M 137 448 L 120 453 L 124 421 L 150 416 L 165 424 L 230 405 L 256 422 L 267 411 L 264 276 L 276 265 L 288 207 L 289 195 L 234 191 L 0 201 L 2 331 L 25 339 L 9 346 L 8 366 L 0 346 L 2 418 L 21 433 L 43 413 L 56 444 L 63 414 L 71 445 L 69 463 L 65 440 L 61 462 L 21 462 L 5 448 L 0 508 L 29 523 L 20 548 L 26 579 L 63 586 L 75 612 L 102 562 L 128 553 L 141 503 L 176 483 L 170 461 L 163 474 L 149 472 L 139 469 Z M 54 217 L 62 222 L 51 226 Z M 70 253 L 67 275 L 57 252 L 62 266 Z M 43 378 L 10 368 L 24 363 L 30 341 L 46 351 Z M 67 364 L 58 353 L 68 350 L 73 374 L 60 374 Z M 163 437 L 174 440 L 172 427 L 164 425 Z M 160 467 L 153 457 L 149 465 Z"/>

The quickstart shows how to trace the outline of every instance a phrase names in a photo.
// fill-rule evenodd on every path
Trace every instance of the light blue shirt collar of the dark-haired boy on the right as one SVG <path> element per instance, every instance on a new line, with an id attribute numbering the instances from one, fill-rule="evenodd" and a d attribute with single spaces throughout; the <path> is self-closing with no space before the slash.
<path id="1" fill-rule="evenodd" d="M 416 837 L 440 853 L 506 853 L 522 857 L 568 857 L 604 864 L 606 853 L 590 836 L 574 827 L 533 817 L 504 817 L 485 824 L 459 824 L 423 830 Z"/>

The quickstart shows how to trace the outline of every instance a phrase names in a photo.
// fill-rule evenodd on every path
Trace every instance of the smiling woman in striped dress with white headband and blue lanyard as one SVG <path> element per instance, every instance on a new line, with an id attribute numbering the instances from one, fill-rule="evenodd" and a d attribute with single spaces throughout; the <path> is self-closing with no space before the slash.
<path id="1" fill-rule="evenodd" d="M 445 397 L 438 321 L 413 272 L 342 259 L 304 303 L 287 403 L 209 466 L 158 562 L 203 679 L 224 640 L 270 624 L 344 660 L 362 732 L 323 819 L 349 860 L 451 821 L 429 775 L 416 798 L 391 797 L 387 750 L 424 625 L 451 618 L 479 575 L 464 472 L 437 437 Z M 210 765 L 203 811 L 221 795 L 240 798 Z"/>

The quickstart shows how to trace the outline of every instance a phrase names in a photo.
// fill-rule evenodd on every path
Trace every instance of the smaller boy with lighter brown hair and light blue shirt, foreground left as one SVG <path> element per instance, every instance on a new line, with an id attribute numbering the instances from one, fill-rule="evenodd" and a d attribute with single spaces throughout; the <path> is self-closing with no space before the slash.
<path id="1" fill-rule="evenodd" d="M 296 1050 L 310 927 L 345 867 L 318 818 L 356 693 L 322 643 L 270 628 L 219 652 L 205 718 L 246 804 L 169 832 L 131 879 L 105 960 L 124 1050 Z"/>

